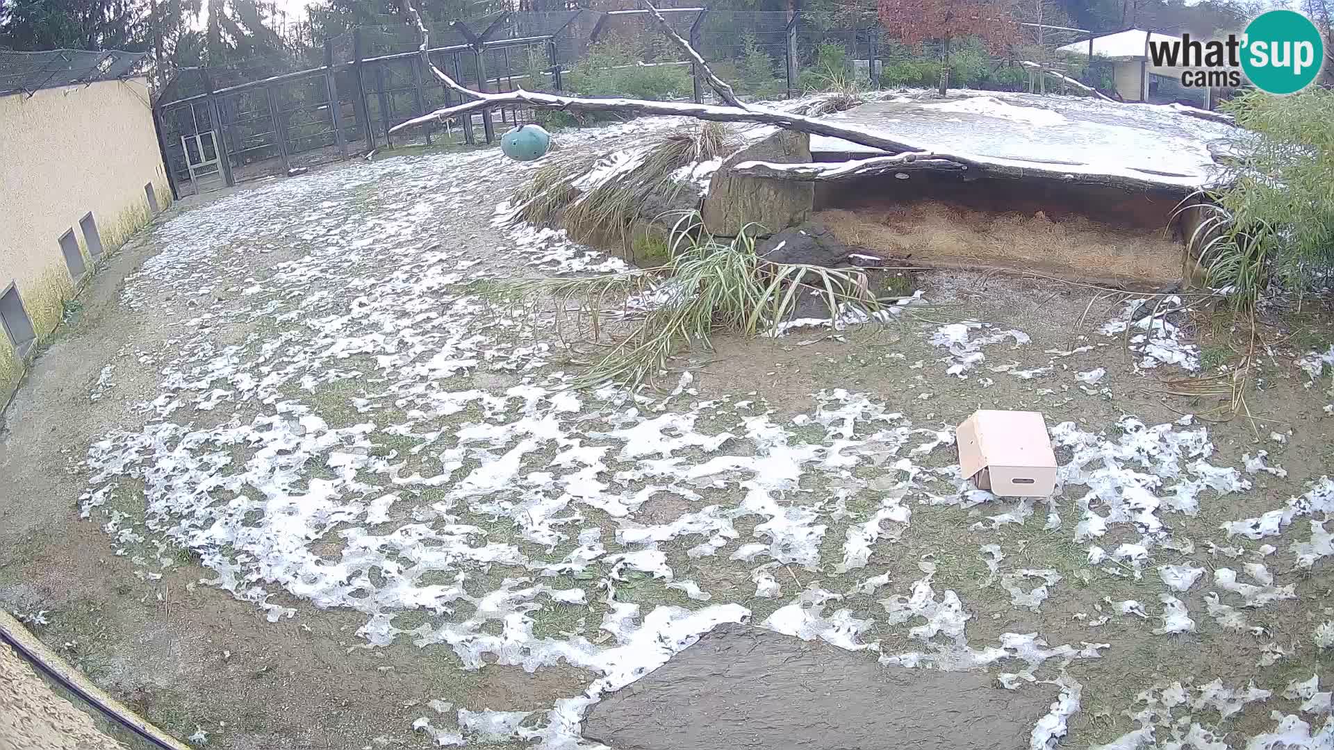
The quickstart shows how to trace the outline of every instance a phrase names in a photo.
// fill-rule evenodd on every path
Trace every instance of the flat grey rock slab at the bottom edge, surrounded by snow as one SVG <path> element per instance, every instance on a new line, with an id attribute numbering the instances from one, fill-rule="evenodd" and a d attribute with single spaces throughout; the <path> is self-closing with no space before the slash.
<path id="1" fill-rule="evenodd" d="M 1027 750 L 1055 693 L 882 667 L 866 653 L 728 625 L 594 706 L 583 735 L 616 750 Z"/>

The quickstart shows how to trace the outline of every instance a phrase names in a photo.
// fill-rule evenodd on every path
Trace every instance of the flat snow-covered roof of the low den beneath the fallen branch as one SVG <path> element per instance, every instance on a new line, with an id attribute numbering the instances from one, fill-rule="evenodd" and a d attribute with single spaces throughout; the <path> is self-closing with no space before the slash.
<path id="1" fill-rule="evenodd" d="M 1217 179 L 1213 149 L 1237 133 L 1171 105 L 999 91 L 951 91 L 944 100 L 902 93 L 830 119 L 1033 175 L 1110 175 L 1190 190 Z M 879 153 L 819 135 L 811 136 L 811 152 Z"/>

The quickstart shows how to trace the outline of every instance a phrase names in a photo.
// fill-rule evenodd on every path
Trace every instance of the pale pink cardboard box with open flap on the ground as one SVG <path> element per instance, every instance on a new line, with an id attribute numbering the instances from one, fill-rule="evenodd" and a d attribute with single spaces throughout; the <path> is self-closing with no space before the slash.
<path id="1" fill-rule="evenodd" d="M 1038 411 L 982 410 L 955 434 L 959 467 L 980 490 L 1046 498 L 1057 486 L 1057 455 Z"/>

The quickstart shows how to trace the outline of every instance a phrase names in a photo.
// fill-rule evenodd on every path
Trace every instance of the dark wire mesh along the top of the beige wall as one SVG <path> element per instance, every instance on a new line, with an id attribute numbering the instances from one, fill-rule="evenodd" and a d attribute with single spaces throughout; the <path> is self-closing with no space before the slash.
<path id="1" fill-rule="evenodd" d="M 143 75 L 147 52 L 107 49 L 0 51 L 0 96 Z"/>

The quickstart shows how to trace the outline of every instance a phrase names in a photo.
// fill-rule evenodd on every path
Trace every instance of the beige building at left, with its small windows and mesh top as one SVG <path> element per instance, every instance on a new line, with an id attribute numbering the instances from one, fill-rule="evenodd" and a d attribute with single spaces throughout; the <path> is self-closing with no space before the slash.
<path id="1" fill-rule="evenodd" d="M 0 51 L 0 404 L 96 263 L 172 200 L 143 61 Z"/>

